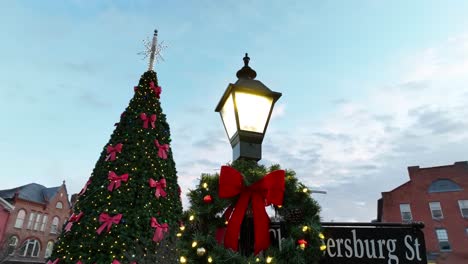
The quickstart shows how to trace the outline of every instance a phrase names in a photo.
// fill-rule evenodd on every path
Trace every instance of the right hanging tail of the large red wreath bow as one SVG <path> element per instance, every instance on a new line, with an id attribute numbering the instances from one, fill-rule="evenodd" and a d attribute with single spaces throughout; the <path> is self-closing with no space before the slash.
<path id="1" fill-rule="evenodd" d="M 270 219 L 265 211 L 265 202 L 260 194 L 252 197 L 252 209 L 254 215 L 254 254 L 270 246 Z"/>

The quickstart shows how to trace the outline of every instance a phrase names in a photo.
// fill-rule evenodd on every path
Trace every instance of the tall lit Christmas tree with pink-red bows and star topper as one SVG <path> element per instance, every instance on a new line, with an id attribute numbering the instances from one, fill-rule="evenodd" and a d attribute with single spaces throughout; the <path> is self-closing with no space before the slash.
<path id="1" fill-rule="evenodd" d="M 182 214 L 171 134 L 153 62 L 81 190 L 49 263 L 176 263 Z"/>

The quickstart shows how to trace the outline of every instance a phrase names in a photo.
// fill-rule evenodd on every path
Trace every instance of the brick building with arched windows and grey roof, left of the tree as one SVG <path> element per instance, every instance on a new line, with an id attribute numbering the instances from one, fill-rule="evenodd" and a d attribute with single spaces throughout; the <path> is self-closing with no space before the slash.
<path id="1" fill-rule="evenodd" d="M 45 263 L 70 215 L 65 182 L 0 190 L 1 263 Z M 4 262 L 2 262 L 4 261 Z"/>

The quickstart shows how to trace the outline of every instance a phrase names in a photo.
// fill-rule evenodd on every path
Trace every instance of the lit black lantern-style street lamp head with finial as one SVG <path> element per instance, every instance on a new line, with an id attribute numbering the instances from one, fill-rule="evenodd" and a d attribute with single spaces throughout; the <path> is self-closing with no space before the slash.
<path id="1" fill-rule="evenodd" d="M 239 158 L 259 161 L 262 141 L 276 101 L 281 93 L 274 92 L 255 80 L 257 73 L 249 67 L 248 54 L 244 67 L 224 91 L 215 111 L 221 114 L 224 128 L 231 142 L 233 160 Z"/>

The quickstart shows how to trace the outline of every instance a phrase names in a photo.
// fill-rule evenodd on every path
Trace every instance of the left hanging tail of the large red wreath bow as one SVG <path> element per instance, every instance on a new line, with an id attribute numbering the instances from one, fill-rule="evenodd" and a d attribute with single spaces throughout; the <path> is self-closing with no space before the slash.
<path id="1" fill-rule="evenodd" d="M 237 251 L 239 248 L 239 234 L 244 219 L 245 211 L 249 205 L 250 194 L 242 193 L 237 201 L 234 212 L 232 213 L 231 219 L 229 219 L 228 226 L 226 228 L 226 234 L 224 236 L 224 247 L 230 248 Z"/>

